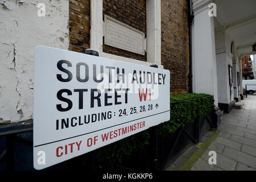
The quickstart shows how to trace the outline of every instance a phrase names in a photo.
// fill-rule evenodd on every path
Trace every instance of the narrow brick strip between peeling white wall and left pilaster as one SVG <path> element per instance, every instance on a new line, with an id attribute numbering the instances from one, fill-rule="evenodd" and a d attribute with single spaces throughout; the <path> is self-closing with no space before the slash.
<path id="1" fill-rule="evenodd" d="M 70 51 L 90 48 L 90 0 L 70 0 Z"/>

